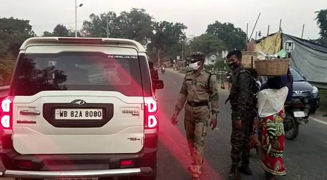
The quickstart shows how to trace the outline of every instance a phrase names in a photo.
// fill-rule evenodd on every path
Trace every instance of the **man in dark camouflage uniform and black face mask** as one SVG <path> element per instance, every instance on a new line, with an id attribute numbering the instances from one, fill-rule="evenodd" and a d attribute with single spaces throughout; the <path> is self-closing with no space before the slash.
<path id="1" fill-rule="evenodd" d="M 242 66 L 242 53 L 232 51 L 227 55 L 230 68 L 233 70 L 233 81 L 230 89 L 230 105 L 232 109 L 231 121 L 231 160 L 232 165 L 229 179 L 239 179 L 240 172 L 251 175 L 249 168 L 250 157 L 250 132 L 254 117 L 254 106 L 251 73 Z M 240 162 L 242 160 L 242 164 Z M 240 171 L 240 172 L 239 172 Z"/>

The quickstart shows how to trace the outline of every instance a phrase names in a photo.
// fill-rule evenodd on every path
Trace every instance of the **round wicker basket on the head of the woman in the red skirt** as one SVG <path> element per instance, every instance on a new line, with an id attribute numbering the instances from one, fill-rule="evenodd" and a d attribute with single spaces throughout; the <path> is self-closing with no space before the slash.
<path id="1" fill-rule="evenodd" d="M 260 76 L 281 76 L 287 74 L 290 59 L 256 60 L 254 63 Z"/>

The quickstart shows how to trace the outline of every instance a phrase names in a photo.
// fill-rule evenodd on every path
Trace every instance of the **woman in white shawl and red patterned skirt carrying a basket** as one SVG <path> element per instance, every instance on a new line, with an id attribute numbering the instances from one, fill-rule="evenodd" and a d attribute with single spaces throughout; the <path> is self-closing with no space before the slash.
<path id="1" fill-rule="evenodd" d="M 261 166 L 267 172 L 268 179 L 286 175 L 283 152 L 284 135 L 284 103 L 288 88 L 282 87 L 281 78 L 268 78 L 268 89 L 258 95 L 259 129 L 261 139 Z"/>

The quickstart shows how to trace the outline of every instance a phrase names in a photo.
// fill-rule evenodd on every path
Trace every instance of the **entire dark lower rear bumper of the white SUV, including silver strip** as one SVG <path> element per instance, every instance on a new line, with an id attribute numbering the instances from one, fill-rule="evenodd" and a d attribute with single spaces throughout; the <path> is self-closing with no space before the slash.
<path id="1" fill-rule="evenodd" d="M 144 148 L 130 154 L 19 154 L 12 146 L 11 134 L 3 134 L 3 149 L 0 151 L 5 167 L 4 177 L 37 178 L 38 175 L 53 178 L 72 175 L 79 177 L 138 176 L 155 173 L 157 158 L 156 133 L 146 134 Z M 133 161 L 130 166 L 121 166 L 121 161 Z M 22 167 L 27 162 L 29 167 Z M 0 171 L 1 175 L 1 171 Z M 86 175 L 86 176 L 85 176 Z M 96 176 L 95 176 L 96 175 Z"/>

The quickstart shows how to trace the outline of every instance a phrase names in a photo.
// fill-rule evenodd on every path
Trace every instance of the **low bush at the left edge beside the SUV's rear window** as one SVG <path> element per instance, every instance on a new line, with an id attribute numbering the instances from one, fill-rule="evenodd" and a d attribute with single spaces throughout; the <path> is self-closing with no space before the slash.
<path id="1" fill-rule="evenodd" d="M 15 61 L 11 59 L 0 59 L 0 86 L 9 85 Z"/>

